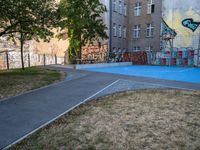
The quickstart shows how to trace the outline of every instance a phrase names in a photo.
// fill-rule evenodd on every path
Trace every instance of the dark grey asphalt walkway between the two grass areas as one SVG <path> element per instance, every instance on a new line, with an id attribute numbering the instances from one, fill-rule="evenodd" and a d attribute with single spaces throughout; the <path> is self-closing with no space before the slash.
<path id="1" fill-rule="evenodd" d="M 0 102 L 0 149 L 22 140 L 85 101 L 119 91 L 147 88 L 200 90 L 190 84 L 150 78 L 78 71 L 49 66 L 68 73 L 50 85 Z"/>

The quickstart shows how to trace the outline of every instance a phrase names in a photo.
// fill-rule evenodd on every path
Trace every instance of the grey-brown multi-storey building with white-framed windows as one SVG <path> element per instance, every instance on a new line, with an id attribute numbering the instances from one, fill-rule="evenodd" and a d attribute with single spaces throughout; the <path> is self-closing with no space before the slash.
<path id="1" fill-rule="evenodd" d="M 122 61 L 124 52 L 159 51 L 162 0 L 101 0 L 108 9 L 103 19 L 108 27 L 110 61 Z M 86 53 L 85 53 L 86 56 Z M 108 57 L 107 57 L 108 58 Z"/>

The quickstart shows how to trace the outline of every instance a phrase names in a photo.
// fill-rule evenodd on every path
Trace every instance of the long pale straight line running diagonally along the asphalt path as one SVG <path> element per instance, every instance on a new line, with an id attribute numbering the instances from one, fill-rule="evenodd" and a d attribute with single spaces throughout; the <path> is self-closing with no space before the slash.
<path id="1" fill-rule="evenodd" d="M 98 91 L 97 93 L 91 95 L 90 97 L 86 98 L 85 100 L 83 100 L 82 102 L 78 103 L 77 105 L 73 106 L 72 108 L 68 109 L 67 111 L 63 112 L 62 114 L 58 115 L 57 117 L 51 119 L 50 121 L 46 122 L 45 124 L 41 125 L 40 127 L 34 129 L 33 131 L 29 132 L 28 134 L 22 136 L 21 138 L 19 138 L 18 140 L 12 142 L 11 144 L 9 144 L 8 146 L 4 147 L 3 150 L 10 148 L 11 146 L 19 143 L 20 141 L 22 141 L 23 139 L 25 139 L 26 137 L 28 137 L 29 135 L 35 133 L 36 131 L 38 131 L 39 129 L 47 126 L 48 124 L 52 123 L 53 121 L 57 120 L 58 118 L 62 117 L 63 115 L 67 114 L 68 112 L 70 112 L 71 110 L 75 109 L 76 107 L 80 106 L 81 104 L 85 103 L 86 101 L 88 101 L 89 99 L 93 98 L 94 96 L 98 95 L 99 93 L 103 92 L 104 90 L 106 90 L 107 88 L 111 87 L 112 85 L 116 84 L 117 82 L 119 82 L 120 80 L 116 80 L 115 82 L 109 84 L 108 86 L 106 86 L 105 88 L 103 88 L 102 90 Z"/>

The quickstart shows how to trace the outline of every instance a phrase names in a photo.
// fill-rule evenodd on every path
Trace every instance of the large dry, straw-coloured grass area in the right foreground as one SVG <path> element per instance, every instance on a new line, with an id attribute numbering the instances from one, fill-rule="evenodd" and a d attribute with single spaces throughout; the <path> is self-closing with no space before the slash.
<path id="1" fill-rule="evenodd" d="M 200 149 L 200 93 L 142 90 L 81 105 L 10 148 Z"/>

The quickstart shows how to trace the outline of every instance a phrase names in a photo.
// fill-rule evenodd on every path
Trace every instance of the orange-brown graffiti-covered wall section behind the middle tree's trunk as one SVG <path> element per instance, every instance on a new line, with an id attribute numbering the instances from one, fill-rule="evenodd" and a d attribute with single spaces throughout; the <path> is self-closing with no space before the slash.
<path id="1" fill-rule="evenodd" d="M 91 44 L 82 49 L 82 59 L 94 59 L 96 62 L 105 62 L 108 54 L 108 44 Z"/>

